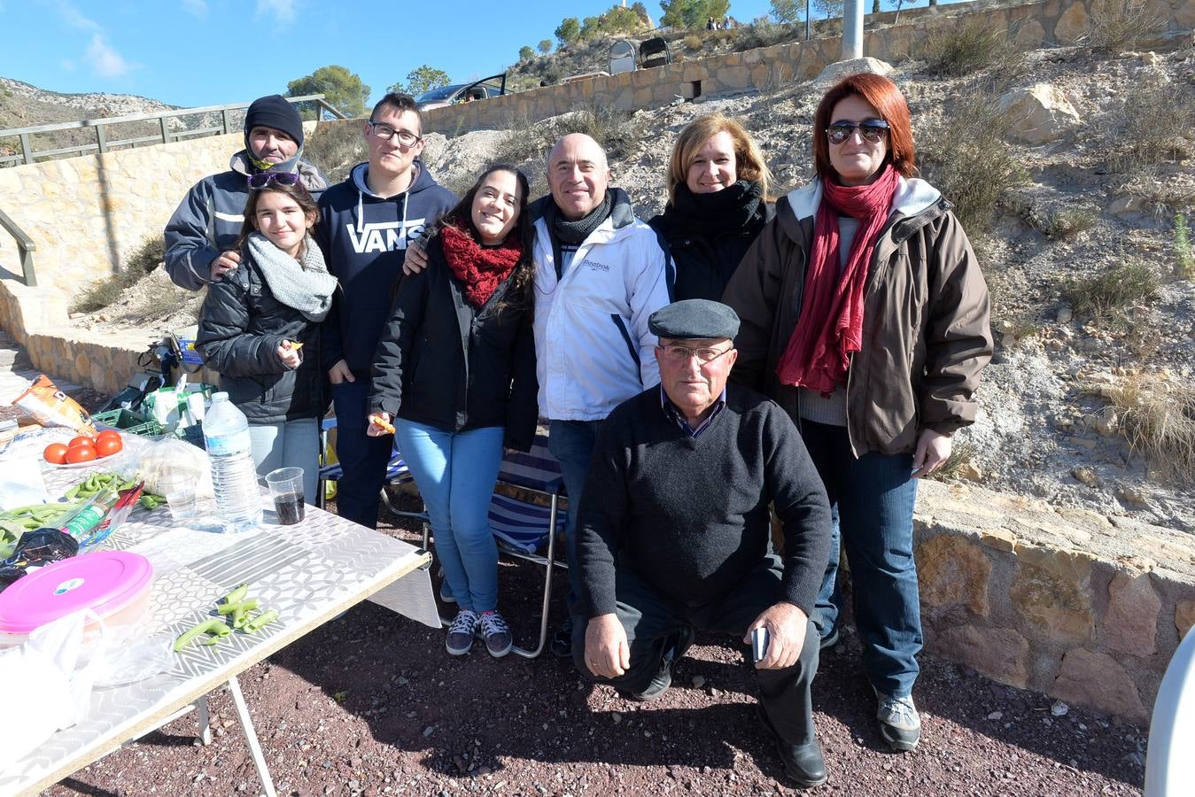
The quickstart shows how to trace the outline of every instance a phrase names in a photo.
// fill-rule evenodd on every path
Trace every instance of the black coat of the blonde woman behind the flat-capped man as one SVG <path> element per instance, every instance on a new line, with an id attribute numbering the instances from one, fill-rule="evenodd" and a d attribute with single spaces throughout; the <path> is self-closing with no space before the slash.
<path id="1" fill-rule="evenodd" d="M 675 213 L 672 206 L 648 222 L 668 244 L 676 266 L 673 301 L 722 301 L 722 292 L 743 255 L 755 243 L 764 225 L 776 215 L 771 204 L 761 206 L 764 211 L 737 233 L 710 232 L 693 217 Z"/>

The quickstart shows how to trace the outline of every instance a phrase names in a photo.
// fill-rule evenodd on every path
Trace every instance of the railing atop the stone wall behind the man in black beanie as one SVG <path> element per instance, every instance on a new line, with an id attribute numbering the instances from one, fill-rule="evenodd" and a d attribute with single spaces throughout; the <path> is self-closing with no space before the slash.
<path id="1" fill-rule="evenodd" d="M 335 118 L 348 118 L 344 114 L 332 108 L 324 94 L 305 94 L 302 97 L 287 97 L 290 103 L 314 103 L 319 109 L 319 116 L 324 112 L 331 114 Z M 244 110 L 250 103 L 232 103 L 228 105 L 207 105 L 204 108 L 180 108 L 173 111 L 158 111 L 157 114 L 133 114 L 130 116 L 114 116 L 103 119 L 81 119 L 79 122 L 59 122 L 57 124 L 39 124 L 31 128 L 12 128 L 0 130 L 0 139 L 17 137 L 20 141 L 20 154 L 0 157 L 0 166 L 8 164 L 31 164 L 35 158 L 54 158 L 56 155 L 82 155 L 90 152 L 108 152 L 114 147 L 135 147 L 139 143 L 168 143 L 182 139 L 190 139 L 200 135 L 221 135 L 234 133 L 232 125 L 232 112 Z M 168 121 L 179 116 L 192 116 L 196 114 L 220 114 L 220 124 L 215 127 L 197 128 L 194 130 L 170 129 Z M 109 128 L 114 124 L 125 124 L 129 122 L 153 122 L 157 121 L 160 133 L 154 135 L 142 135 L 133 139 L 110 139 Z M 57 130 L 79 130 L 86 128 L 96 129 L 96 143 L 81 143 L 71 147 L 57 147 L 54 149 L 33 149 L 32 136 L 38 133 L 54 133 Z"/>

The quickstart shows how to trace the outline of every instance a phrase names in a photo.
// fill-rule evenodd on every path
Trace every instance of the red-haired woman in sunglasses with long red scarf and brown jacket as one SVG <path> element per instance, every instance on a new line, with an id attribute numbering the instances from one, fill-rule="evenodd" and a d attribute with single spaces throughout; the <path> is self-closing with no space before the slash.
<path id="1" fill-rule="evenodd" d="M 735 376 L 788 410 L 826 483 L 880 731 L 896 750 L 921 734 L 917 479 L 975 419 L 992 356 L 975 255 L 950 202 L 913 177 L 914 158 L 896 85 L 841 80 L 814 116 L 816 178 L 779 200 L 723 296 L 742 320 Z M 839 636 L 833 550 L 810 618 L 823 648 Z"/>

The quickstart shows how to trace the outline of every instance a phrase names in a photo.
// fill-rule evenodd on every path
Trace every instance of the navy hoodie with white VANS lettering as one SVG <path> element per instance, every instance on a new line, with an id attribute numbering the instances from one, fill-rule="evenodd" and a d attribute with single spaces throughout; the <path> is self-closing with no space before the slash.
<path id="1" fill-rule="evenodd" d="M 369 378 L 407 241 L 456 204 L 456 196 L 416 164 L 415 183 L 398 196 L 382 198 L 369 191 L 366 163 L 319 198 L 315 240 L 327 270 L 341 281 L 323 325 L 325 369 L 344 360 L 355 376 Z"/>

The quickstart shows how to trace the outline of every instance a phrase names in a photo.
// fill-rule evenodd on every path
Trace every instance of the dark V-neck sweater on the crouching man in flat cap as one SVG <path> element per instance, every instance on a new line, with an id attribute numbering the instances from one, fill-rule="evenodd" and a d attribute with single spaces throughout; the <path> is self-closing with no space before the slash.
<path id="1" fill-rule="evenodd" d="M 577 519 L 582 611 L 614 611 L 630 568 L 691 607 L 724 597 L 767 553 L 768 504 L 784 523 L 782 597 L 813 612 L 829 559 L 826 489 L 778 404 L 740 385 L 697 437 L 650 387 L 602 422 Z"/>

